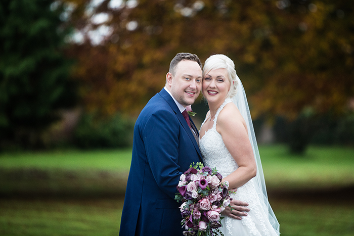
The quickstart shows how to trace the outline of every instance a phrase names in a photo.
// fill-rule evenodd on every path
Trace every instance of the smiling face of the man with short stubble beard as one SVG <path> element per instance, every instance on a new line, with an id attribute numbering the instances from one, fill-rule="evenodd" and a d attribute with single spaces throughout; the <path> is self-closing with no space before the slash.
<path id="1" fill-rule="evenodd" d="M 184 60 L 177 64 L 175 75 L 167 73 L 167 83 L 173 98 L 183 106 L 192 105 L 202 86 L 202 69 L 194 61 Z"/>

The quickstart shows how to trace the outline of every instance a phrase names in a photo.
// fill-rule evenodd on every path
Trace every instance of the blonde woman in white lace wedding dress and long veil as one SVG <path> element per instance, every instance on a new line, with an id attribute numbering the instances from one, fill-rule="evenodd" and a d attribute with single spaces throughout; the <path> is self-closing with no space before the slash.
<path id="1" fill-rule="evenodd" d="M 200 151 L 237 188 L 231 197 L 249 203 L 241 220 L 225 216 L 220 228 L 227 235 L 279 235 L 279 223 L 268 202 L 246 94 L 233 61 L 212 55 L 204 64 L 202 93 L 209 111 L 200 129 Z"/>

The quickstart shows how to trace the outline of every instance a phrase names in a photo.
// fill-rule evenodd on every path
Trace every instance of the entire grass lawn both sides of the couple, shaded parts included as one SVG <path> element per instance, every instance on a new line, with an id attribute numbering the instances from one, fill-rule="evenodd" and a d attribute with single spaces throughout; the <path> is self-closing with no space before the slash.
<path id="1" fill-rule="evenodd" d="M 285 146 L 261 146 L 260 155 L 269 191 L 354 185 L 352 148 L 310 147 L 295 156 Z M 130 156 L 131 150 L 1 154 L 0 192 L 32 198 L 0 199 L 0 235 L 118 235 Z M 36 198 L 40 193 L 56 198 Z M 60 198 L 65 193 L 85 198 Z M 324 199 L 270 198 L 281 235 L 353 235 L 354 202 Z"/>

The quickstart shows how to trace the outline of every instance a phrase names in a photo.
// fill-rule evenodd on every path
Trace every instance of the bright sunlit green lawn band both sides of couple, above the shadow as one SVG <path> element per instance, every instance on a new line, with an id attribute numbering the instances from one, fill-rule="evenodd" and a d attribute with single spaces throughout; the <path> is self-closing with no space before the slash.
<path id="1" fill-rule="evenodd" d="M 309 147 L 304 156 L 296 156 L 289 154 L 286 146 L 274 145 L 260 146 L 259 152 L 269 189 L 294 190 L 354 185 L 353 148 Z M 57 177 L 65 170 L 83 176 L 82 178 L 94 173 L 102 175 L 102 172 L 114 178 L 120 173 L 120 178 L 124 179 L 122 175 L 127 175 L 130 159 L 131 149 L 6 153 L 0 154 L 0 169 L 35 169 Z"/>

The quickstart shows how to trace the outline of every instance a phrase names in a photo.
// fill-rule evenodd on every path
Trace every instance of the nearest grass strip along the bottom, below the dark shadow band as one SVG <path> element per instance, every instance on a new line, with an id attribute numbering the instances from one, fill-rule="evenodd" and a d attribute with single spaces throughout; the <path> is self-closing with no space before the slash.
<path id="1" fill-rule="evenodd" d="M 121 199 L 0 200 L 2 236 L 118 235 Z M 282 236 L 349 236 L 354 204 L 276 200 L 271 202 Z"/>

